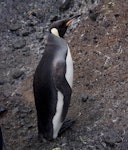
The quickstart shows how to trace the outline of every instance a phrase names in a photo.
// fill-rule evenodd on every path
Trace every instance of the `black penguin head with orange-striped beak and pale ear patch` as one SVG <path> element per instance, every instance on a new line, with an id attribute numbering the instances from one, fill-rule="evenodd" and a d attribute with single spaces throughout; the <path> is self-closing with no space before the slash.
<path id="1" fill-rule="evenodd" d="M 67 31 L 67 28 L 79 16 L 80 15 L 76 15 L 76 16 L 70 17 L 68 19 L 63 19 L 63 20 L 54 22 L 50 27 L 50 33 L 53 33 L 56 36 L 63 38 L 65 32 Z"/>

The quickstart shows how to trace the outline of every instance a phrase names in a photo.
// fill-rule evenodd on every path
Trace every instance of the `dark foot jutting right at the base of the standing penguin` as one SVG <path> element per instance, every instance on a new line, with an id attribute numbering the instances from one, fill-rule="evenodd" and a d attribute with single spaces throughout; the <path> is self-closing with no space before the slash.
<path id="1" fill-rule="evenodd" d="M 58 136 L 60 136 L 62 133 L 64 133 L 67 129 L 69 129 L 74 123 L 75 123 L 75 121 L 76 120 L 66 120 L 64 123 L 63 123 L 63 125 L 62 125 L 62 127 L 61 127 L 61 129 L 60 129 L 60 131 L 59 131 L 59 133 L 58 133 Z"/>

